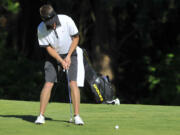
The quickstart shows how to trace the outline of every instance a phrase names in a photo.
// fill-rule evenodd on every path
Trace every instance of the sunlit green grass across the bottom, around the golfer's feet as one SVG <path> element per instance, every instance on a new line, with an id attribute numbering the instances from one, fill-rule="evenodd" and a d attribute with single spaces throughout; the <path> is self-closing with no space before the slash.
<path id="1" fill-rule="evenodd" d="M 0 100 L 0 135 L 180 135 L 179 106 L 81 104 L 84 126 L 67 122 L 68 103 L 50 103 L 44 125 L 38 113 L 39 102 Z"/>

